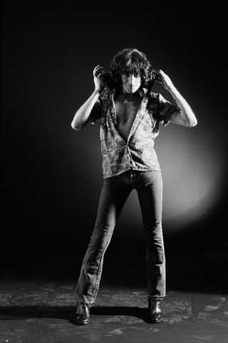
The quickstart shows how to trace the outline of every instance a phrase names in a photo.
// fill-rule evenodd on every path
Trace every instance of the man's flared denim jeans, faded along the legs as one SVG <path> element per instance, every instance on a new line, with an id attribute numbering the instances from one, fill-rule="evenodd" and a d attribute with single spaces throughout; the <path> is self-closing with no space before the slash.
<path id="1" fill-rule="evenodd" d="M 76 300 L 92 306 L 98 294 L 103 257 L 130 192 L 136 189 L 145 233 L 147 296 L 165 297 L 165 250 L 162 235 L 162 175 L 160 171 L 126 171 L 104 179 L 93 235 L 83 258 Z"/>

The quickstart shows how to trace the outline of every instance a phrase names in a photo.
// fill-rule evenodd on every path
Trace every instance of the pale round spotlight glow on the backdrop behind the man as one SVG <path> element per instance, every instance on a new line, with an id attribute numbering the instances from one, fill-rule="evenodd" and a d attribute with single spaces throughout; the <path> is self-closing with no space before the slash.
<path id="1" fill-rule="evenodd" d="M 197 222 L 217 204 L 223 192 L 226 152 L 220 152 L 207 134 L 202 141 L 195 129 L 170 125 L 164 130 L 155 150 L 163 178 L 163 223 L 171 231 Z M 141 224 L 136 192 L 130 195 L 120 220 L 131 228 Z"/>

